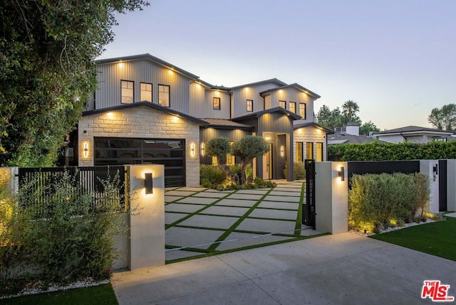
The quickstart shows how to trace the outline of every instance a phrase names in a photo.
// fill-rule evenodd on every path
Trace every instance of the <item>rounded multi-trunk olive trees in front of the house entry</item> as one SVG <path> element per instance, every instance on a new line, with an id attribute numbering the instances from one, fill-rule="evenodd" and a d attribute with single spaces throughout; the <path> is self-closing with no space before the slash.
<path id="1" fill-rule="evenodd" d="M 229 177 L 234 184 L 247 183 L 247 166 L 254 158 L 258 158 L 269 151 L 269 145 L 262 137 L 247 136 L 239 141 L 229 144 L 227 138 L 217 137 L 211 139 L 206 145 L 209 156 L 217 156 L 219 168 Z M 232 154 L 239 160 L 237 166 L 227 166 L 227 154 Z"/>

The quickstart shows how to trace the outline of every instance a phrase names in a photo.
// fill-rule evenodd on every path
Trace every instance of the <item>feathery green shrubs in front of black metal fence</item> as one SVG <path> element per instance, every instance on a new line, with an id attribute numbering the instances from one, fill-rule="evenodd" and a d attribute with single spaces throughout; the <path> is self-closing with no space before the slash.
<path id="1" fill-rule="evenodd" d="M 65 171 L 44 188 L 36 189 L 36 178 L 24 181 L 15 206 L 29 219 L 18 242 L 27 254 L 28 281 L 46 285 L 110 277 L 109 269 L 120 254 L 115 237 L 127 230 L 121 217 L 124 195 L 119 173 L 99 180 L 102 189 L 96 192 L 101 196 L 96 200 L 94 193 L 83 190 L 77 172 Z M 47 200 L 38 199 L 43 193 L 50 194 Z"/>

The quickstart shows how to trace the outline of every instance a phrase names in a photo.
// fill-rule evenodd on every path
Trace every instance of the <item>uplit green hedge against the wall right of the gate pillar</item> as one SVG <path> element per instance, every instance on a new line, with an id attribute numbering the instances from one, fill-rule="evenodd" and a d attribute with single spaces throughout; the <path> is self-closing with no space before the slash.
<path id="1" fill-rule="evenodd" d="M 348 225 L 378 232 L 398 223 L 423 220 L 430 198 L 429 178 L 421 173 L 353 175 L 348 194 Z"/>

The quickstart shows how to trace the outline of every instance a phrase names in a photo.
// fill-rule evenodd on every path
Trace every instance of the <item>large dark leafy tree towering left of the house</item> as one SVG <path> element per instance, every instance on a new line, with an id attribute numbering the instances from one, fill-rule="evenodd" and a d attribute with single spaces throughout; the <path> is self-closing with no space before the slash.
<path id="1" fill-rule="evenodd" d="M 50 166 L 96 89 L 115 13 L 146 0 L 5 0 L 0 6 L 0 165 Z"/>

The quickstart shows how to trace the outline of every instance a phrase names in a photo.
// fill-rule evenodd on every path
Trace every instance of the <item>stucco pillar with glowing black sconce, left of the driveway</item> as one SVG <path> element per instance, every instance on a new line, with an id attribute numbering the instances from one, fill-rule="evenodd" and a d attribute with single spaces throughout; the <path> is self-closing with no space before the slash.
<path id="1" fill-rule="evenodd" d="M 131 165 L 130 200 L 137 215 L 130 216 L 130 270 L 165 264 L 165 168 Z M 152 192 L 146 194 L 145 173 L 152 173 Z"/>

